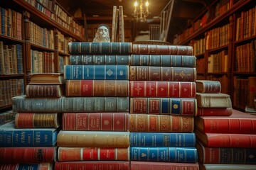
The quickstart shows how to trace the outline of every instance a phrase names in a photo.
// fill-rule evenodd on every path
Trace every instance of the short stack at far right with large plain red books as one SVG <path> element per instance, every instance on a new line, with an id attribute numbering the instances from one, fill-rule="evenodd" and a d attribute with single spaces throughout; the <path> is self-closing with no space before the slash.
<path id="1" fill-rule="evenodd" d="M 200 169 L 255 169 L 256 116 L 236 111 L 219 81 L 196 81 Z"/>

